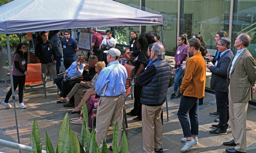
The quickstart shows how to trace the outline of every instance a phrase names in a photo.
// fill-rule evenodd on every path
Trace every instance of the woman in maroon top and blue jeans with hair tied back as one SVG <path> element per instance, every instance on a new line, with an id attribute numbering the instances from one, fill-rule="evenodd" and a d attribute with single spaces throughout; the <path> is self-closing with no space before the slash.
<path id="1" fill-rule="evenodd" d="M 175 65 L 174 65 L 174 71 L 175 71 L 175 79 L 174 79 L 174 86 L 173 86 L 173 92 L 171 95 L 171 99 L 175 99 L 175 98 L 181 98 L 181 92 L 178 96 L 176 96 L 176 92 L 178 87 L 181 86 L 182 83 L 182 74 L 183 74 L 183 70 L 181 68 L 181 64 L 183 61 L 186 61 L 188 59 L 188 50 L 187 50 L 187 36 L 185 34 L 180 35 L 178 38 L 178 43 L 179 43 L 179 47 L 177 48 L 174 60 L 175 60 Z"/>

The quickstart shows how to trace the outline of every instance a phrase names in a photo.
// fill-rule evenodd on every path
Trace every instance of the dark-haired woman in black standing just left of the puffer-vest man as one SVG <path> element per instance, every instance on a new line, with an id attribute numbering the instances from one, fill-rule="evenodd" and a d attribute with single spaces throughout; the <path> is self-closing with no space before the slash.
<path id="1" fill-rule="evenodd" d="M 133 115 L 138 116 L 134 118 L 134 120 L 141 120 L 141 90 L 142 87 L 139 85 L 136 85 L 136 79 L 138 75 L 144 72 L 145 67 L 147 67 L 149 57 L 147 54 L 147 39 L 146 38 L 139 38 L 137 41 L 137 48 L 140 50 L 139 55 L 136 57 L 135 62 L 133 62 L 130 58 L 126 57 L 126 60 L 131 62 L 132 65 L 135 66 L 134 70 L 134 107 L 131 112 L 128 112 L 127 115 Z"/>

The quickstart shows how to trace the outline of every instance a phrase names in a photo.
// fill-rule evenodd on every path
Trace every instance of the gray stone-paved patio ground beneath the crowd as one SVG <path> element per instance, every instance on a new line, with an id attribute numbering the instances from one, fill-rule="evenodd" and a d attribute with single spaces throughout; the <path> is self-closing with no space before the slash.
<path id="1" fill-rule="evenodd" d="M 170 57 L 171 59 L 172 57 Z M 64 71 L 62 65 L 61 71 Z M 19 126 L 20 143 L 23 145 L 31 146 L 30 134 L 32 131 L 32 124 L 34 118 L 37 119 L 41 133 L 42 149 L 45 150 L 45 131 L 47 131 L 54 149 L 56 150 L 59 129 L 61 122 L 68 111 L 71 111 L 73 107 L 63 107 L 63 104 L 57 104 L 57 88 L 52 87 L 52 81 L 47 79 L 47 98 L 44 99 L 42 86 L 35 87 L 38 91 L 31 91 L 24 94 L 24 103 L 27 106 L 26 109 L 18 108 L 18 95 L 15 95 L 16 111 Z M 10 84 L 10 83 L 9 83 Z M 10 87 L 5 87 L 4 83 L 0 83 L 0 101 L 3 101 L 5 95 Z M 168 90 L 168 112 L 169 121 L 163 124 L 163 142 L 162 148 L 165 153 L 179 153 L 183 147 L 183 143 L 180 139 L 183 137 L 181 124 L 177 118 L 177 111 L 179 109 L 180 99 L 170 100 L 172 93 L 172 87 Z M 13 105 L 13 104 L 12 104 Z M 126 111 L 129 112 L 133 107 L 133 100 L 129 97 L 126 101 Z M 223 146 L 225 141 L 232 140 L 231 129 L 229 128 L 227 135 L 211 135 L 209 131 L 212 130 L 211 125 L 217 124 L 214 122 L 214 117 L 209 115 L 209 112 L 216 111 L 215 96 L 210 93 L 205 93 L 203 105 L 198 107 L 199 111 L 199 135 L 198 145 L 194 146 L 187 152 L 204 152 L 204 153 L 220 153 L 225 152 L 227 146 Z M 0 139 L 17 142 L 17 133 L 15 126 L 14 108 L 6 109 L 0 106 Z M 247 153 L 256 152 L 256 109 L 248 107 L 247 113 Z M 69 115 L 69 120 L 73 121 L 77 119 L 79 115 Z M 129 153 L 143 153 L 142 145 L 142 122 L 132 120 L 133 116 L 127 116 L 128 118 L 128 150 Z M 163 118 L 167 120 L 166 104 L 163 105 Z M 75 134 L 81 133 L 82 125 L 70 124 L 70 128 Z M 109 128 L 109 134 L 106 142 L 108 146 L 112 141 L 112 127 Z M 0 152 L 16 153 L 18 150 L 6 148 L 0 146 Z M 111 153 L 111 151 L 109 150 Z M 22 151 L 25 153 L 25 151 Z"/>

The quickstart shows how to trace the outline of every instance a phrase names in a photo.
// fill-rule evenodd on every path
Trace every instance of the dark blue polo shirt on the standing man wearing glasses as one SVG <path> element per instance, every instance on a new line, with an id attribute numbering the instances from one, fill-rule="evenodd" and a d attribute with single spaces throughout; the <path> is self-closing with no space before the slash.
<path id="1" fill-rule="evenodd" d="M 69 41 L 66 41 L 66 38 L 64 38 L 61 41 L 62 48 L 64 48 L 64 59 L 65 60 L 75 60 L 75 48 L 77 48 L 77 43 L 75 39 L 69 38 Z M 64 47 L 66 46 L 66 48 Z"/>

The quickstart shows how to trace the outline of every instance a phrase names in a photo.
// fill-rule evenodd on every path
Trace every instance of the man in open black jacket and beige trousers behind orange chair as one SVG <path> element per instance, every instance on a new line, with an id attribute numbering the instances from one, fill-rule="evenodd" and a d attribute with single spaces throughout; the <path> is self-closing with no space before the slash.
<path id="1" fill-rule="evenodd" d="M 40 63 L 42 66 L 42 73 L 45 74 L 45 82 L 47 80 L 46 72 L 47 72 L 47 69 L 49 68 L 50 71 L 52 72 L 53 86 L 56 87 L 54 79 L 57 76 L 56 65 L 55 65 L 57 62 L 57 56 L 55 53 L 54 44 L 51 40 L 48 40 L 48 35 L 45 31 L 42 31 L 40 35 L 41 35 L 42 41 L 39 41 L 35 46 L 35 56 L 37 56 L 40 60 Z M 45 83 L 45 88 L 47 87 L 46 85 L 47 84 Z"/>

